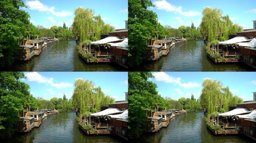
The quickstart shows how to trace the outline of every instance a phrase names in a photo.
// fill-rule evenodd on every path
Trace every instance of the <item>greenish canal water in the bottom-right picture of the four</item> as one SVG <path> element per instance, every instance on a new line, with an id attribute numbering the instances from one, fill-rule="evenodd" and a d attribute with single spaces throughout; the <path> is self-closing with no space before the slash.
<path id="1" fill-rule="evenodd" d="M 214 136 L 207 129 L 204 112 L 190 112 L 171 119 L 167 128 L 147 133 L 134 143 L 254 143 L 244 135 Z"/>

